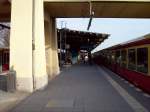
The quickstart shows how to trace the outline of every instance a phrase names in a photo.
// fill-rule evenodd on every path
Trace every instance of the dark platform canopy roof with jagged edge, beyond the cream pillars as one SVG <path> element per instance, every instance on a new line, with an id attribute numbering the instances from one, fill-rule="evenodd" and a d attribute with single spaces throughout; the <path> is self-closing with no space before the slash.
<path id="1" fill-rule="evenodd" d="M 77 31 L 70 29 L 58 29 L 58 45 L 61 49 L 92 50 L 101 44 L 110 35 L 104 33 L 94 33 Z M 61 43 L 60 43 L 61 40 Z"/>

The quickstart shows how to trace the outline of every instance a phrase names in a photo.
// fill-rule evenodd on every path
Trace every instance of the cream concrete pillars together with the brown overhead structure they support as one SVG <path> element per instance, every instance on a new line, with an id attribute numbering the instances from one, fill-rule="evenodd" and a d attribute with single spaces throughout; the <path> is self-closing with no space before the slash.
<path id="1" fill-rule="evenodd" d="M 91 11 L 99 18 L 150 18 L 149 5 L 144 0 L 0 0 L 0 21 L 11 22 L 9 68 L 16 71 L 17 90 L 44 88 L 59 74 L 56 18 L 89 18 Z"/>

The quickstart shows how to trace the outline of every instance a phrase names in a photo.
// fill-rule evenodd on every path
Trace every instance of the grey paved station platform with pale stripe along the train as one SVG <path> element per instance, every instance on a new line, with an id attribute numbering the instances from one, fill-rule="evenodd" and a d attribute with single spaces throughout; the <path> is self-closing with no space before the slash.
<path id="1" fill-rule="evenodd" d="M 150 96 L 108 69 L 79 64 L 11 112 L 149 112 Z"/>

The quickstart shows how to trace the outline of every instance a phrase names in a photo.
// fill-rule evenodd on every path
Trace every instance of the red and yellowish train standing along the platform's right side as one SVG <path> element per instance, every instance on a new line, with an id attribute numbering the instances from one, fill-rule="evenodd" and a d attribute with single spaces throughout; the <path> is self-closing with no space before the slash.
<path id="1" fill-rule="evenodd" d="M 150 93 L 150 34 L 96 52 L 94 61 Z"/>

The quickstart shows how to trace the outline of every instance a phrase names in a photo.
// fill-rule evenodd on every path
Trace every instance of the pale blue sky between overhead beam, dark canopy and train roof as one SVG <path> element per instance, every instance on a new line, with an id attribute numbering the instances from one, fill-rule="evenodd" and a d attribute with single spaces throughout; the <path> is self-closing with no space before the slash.
<path id="1" fill-rule="evenodd" d="M 89 18 L 58 18 L 57 27 L 87 31 L 88 22 Z M 96 52 L 150 33 L 150 19 L 94 18 L 89 31 L 110 34 L 107 40 L 92 51 Z"/>

